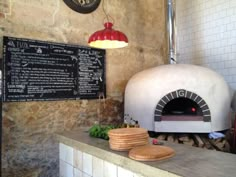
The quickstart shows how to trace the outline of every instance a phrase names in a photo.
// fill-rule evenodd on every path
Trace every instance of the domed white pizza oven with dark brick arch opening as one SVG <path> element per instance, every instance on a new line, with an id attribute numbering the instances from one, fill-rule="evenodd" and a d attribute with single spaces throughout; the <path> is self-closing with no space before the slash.
<path id="1" fill-rule="evenodd" d="M 162 65 L 135 74 L 125 90 L 125 114 L 156 132 L 230 128 L 231 94 L 222 76 L 201 66 Z"/>

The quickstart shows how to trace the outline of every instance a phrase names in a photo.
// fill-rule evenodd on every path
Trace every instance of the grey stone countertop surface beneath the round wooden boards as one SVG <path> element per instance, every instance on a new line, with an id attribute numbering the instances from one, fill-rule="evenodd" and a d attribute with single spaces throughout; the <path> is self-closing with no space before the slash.
<path id="1" fill-rule="evenodd" d="M 236 176 L 236 155 L 188 145 L 164 142 L 175 150 L 175 156 L 155 162 L 138 162 L 128 152 L 113 151 L 108 141 L 90 137 L 86 128 L 57 134 L 59 142 L 109 161 L 147 177 L 233 177 Z"/>

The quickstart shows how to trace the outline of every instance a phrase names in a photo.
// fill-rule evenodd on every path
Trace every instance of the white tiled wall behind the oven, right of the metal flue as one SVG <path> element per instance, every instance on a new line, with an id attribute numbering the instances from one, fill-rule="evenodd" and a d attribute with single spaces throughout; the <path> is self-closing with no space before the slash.
<path id="1" fill-rule="evenodd" d="M 176 0 L 177 62 L 209 67 L 236 90 L 236 0 Z"/>

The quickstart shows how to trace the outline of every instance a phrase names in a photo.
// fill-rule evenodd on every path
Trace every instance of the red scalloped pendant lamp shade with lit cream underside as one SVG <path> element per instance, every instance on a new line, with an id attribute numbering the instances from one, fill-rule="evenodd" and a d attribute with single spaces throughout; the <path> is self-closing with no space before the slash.
<path id="1" fill-rule="evenodd" d="M 88 40 L 91 47 L 102 49 L 114 49 L 128 46 L 128 38 L 120 31 L 112 29 L 113 24 L 106 22 L 105 29 L 96 31 Z"/>

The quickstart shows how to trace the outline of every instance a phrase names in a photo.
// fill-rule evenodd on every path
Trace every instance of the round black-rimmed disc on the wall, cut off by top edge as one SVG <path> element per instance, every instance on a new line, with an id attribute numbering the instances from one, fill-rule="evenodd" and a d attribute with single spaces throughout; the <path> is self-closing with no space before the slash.
<path id="1" fill-rule="evenodd" d="M 97 9 L 101 0 L 63 0 L 72 10 L 87 14 Z"/>

